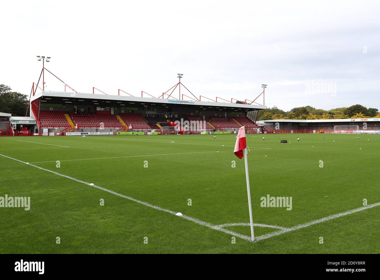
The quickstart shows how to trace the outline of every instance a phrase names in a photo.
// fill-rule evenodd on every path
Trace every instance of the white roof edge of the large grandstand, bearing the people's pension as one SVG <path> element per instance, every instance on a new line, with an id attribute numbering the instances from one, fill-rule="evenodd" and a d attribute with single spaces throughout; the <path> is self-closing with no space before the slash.
<path id="1" fill-rule="evenodd" d="M 230 102 L 214 102 L 214 101 L 195 101 L 195 100 L 178 100 L 178 99 L 166 99 L 166 98 L 146 98 L 146 97 L 133 97 L 124 95 L 104 95 L 104 94 L 91 94 L 91 93 L 73 93 L 73 92 L 63 92 L 63 91 L 41 91 L 36 93 L 30 100 L 33 101 L 40 97 L 52 96 L 52 97 L 62 97 L 62 98 L 72 98 L 72 99 L 99 99 L 99 100 L 114 100 L 114 101 L 135 101 L 135 102 L 154 102 L 161 104 L 182 104 L 182 105 L 194 105 L 194 106 L 225 106 L 234 108 L 244 108 L 261 110 L 266 109 L 264 105 L 258 104 L 239 104 Z"/>

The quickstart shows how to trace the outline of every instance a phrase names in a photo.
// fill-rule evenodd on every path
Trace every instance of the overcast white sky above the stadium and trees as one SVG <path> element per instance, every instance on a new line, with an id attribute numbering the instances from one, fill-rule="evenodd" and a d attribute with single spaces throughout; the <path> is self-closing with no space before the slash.
<path id="1" fill-rule="evenodd" d="M 0 84 L 28 94 L 42 63 L 78 92 L 196 96 L 290 110 L 380 109 L 378 1 L 1 1 Z M 63 84 L 45 72 L 46 90 Z M 322 86 L 319 88 L 319 86 Z M 181 90 L 182 93 L 182 90 Z M 141 96 L 141 95 L 140 95 Z M 176 94 L 176 97 L 178 94 Z"/>

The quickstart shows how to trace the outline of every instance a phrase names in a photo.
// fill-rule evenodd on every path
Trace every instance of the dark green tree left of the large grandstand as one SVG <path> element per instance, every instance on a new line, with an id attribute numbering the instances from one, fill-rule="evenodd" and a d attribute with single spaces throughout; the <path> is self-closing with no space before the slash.
<path id="1" fill-rule="evenodd" d="M 25 94 L 12 91 L 9 86 L 0 85 L 0 112 L 13 116 L 25 116 L 28 98 Z"/>

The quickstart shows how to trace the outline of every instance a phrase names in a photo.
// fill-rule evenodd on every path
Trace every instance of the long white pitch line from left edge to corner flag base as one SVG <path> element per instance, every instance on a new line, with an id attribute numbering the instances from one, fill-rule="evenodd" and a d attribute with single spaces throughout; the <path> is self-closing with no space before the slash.
<path id="1" fill-rule="evenodd" d="M 16 158 L 12 158 L 12 157 L 8 157 L 6 155 L 2 155 L 0 154 L 0 156 L 2 157 L 6 157 L 6 158 L 9 158 L 11 160 L 15 160 L 17 162 L 21 162 L 21 163 L 25 163 L 26 162 L 23 162 L 22 160 L 18 160 Z M 109 192 L 110 194 L 113 194 L 113 195 L 117 195 L 119 197 L 122 197 L 122 198 L 126 198 L 128 200 L 131 200 L 131 201 L 134 201 L 134 202 L 137 202 L 139 204 L 142 204 L 142 205 L 145 205 L 145 206 L 148 206 L 150 208 L 153 208 L 153 209 L 156 209 L 156 210 L 160 210 L 160 211 L 164 211 L 166 213 L 170 213 L 170 214 L 173 214 L 173 215 L 176 215 L 178 212 L 175 212 L 175 211 L 171 211 L 171 210 L 168 210 L 168 209 L 165 209 L 165 208 L 162 208 L 160 206 L 156 206 L 156 205 L 152 205 L 150 203 L 147 203 L 147 202 L 143 202 L 141 200 L 138 200 L 138 199 L 135 199 L 133 197 L 128 197 L 127 195 L 123 195 L 123 194 L 119 194 L 117 192 L 114 192 L 113 190 L 109 190 L 109 189 L 105 189 L 103 187 L 100 187 L 100 186 L 97 186 L 95 184 L 91 185 L 89 182 L 85 182 L 85 181 L 82 181 L 82 180 L 78 180 L 78 179 L 75 179 L 73 177 L 70 177 L 70 176 L 67 176 L 67 175 L 64 175 L 64 174 L 60 174 L 58 172 L 55 172 L 55 171 L 52 171 L 52 170 L 49 170 L 49 169 L 46 169 L 46 168 L 42 168 L 40 166 L 37 166 L 37 165 L 33 165 L 33 164 L 28 164 L 29 166 L 33 166 L 35 168 L 38 168 L 40 170 L 44 170 L 44 171 L 47 171 L 47 172 L 50 172 L 50 173 L 53 173 L 55 175 L 59 175 L 59 176 L 62 176 L 62 177 L 65 177 L 67 179 L 70 179 L 70 180 L 73 180 L 73 181 L 76 181 L 76 182 L 79 182 L 79 183 L 82 183 L 82 184 L 86 184 L 88 186 L 91 186 L 91 187 L 95 187 L 97 189 L 100 189 L 100 190 L 104 190 L 105 192 Z M 180 218 L 184 218 L 184 219 L 187 219 L 188 221 L 192 221 L 192 222 L 195 222 L 196 224 L 199 224 L 199 225 L 202 225 L 202 226 L 206 226 L 206 227 L 209 227 L 210 229 L 214 229 L 214 230 L 218 230 L 220 232 L 224 232 L 226 234 L 231 234 L 233 236 L 236 236 L 236 237 L 239 237 L 239 238 L 242 238 L 244 240 L 250 240 L 250 237 L 249 236 L 246 236 L 246 235 L 242 235 L 242 234 L 239 234 L 237 232 L 233 232 L 231 230 L 228 230 L 228 229 L 223 229 L 223 228 L 220 228 L 218 226 L 213 226 L 212 224 L 208 223 L 208 222 L 204 222 L 204 221 L 201 221 L 201 220 L 198 220 L 198 219 L 195 219 L 195 218 L 192 218 L 190 216 L 186 216 L 186 215 L 183 215 L 183 216 L 176 216 L 176 217 L 180 217 Z"/>

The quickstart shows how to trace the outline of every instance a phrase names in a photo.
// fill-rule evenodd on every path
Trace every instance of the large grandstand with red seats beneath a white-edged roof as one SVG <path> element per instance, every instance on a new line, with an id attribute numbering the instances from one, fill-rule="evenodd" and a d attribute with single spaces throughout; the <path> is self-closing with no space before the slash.
<path id="1" fill-rule="evenodd" d="M 30 104 L 30 116 L 40 131 L 31 135 L 150 134 L 174 127 L 176 121 L 184 124 L 180 134 L 188 132 L 186 123 L 191 122 L 204 123 L 199 133 L 237 131 L 243 125 L 257 133 L 258 110 L 266 109 L 233 99 L 227 103 L 58 91 L 41 91 Z"/>

